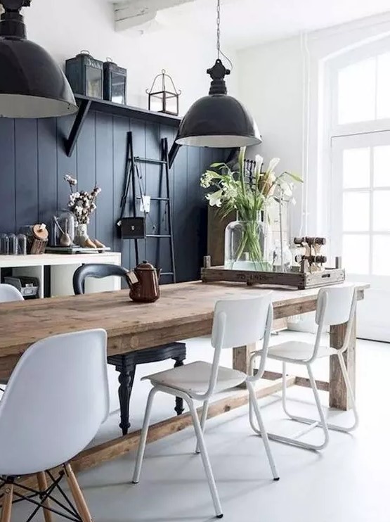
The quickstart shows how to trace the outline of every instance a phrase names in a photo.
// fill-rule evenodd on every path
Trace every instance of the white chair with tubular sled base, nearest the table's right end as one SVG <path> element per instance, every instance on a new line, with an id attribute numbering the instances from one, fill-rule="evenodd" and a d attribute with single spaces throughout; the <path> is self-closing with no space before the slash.
<path id="1" fill-rule="evenodd" d="M 280 345 L 272 346 L 268 350 L 268 355 L 266 355 L 263 351 L 254 352 L 254 354 L 252 355 L 252 364 L 254 363 L 254 359 L 256 359 L 256 357 L 259 356 L 261 356 L 262 359 L 266 359 L 266 357 L 268 357 L 268 359 L 274 359 L 282 362 L 282 407 L 285 411 L 285 414 L 289 416 L 290 419 L 309 425 L 304 430 L 299 431 L 299 433 L 290 438 L 284 437 L 282 435 L 277 435 L 275 433 L 268 433 L 268 438 L 276 440 L 280 443 L 290 444 L 308 450 L 323 450 L 323 448 L 325 448 L 329 443 L 329 430 L 349 432 L 357 428 L 358 412 L 356 409 L 355 397 L 353 396 L 353 389 L 351 386 L 351 382 L 349 381 L 349 376 L 346 370 L 346 365 L 343 357 L 343 354 L 347 350 L 349 342 L 351 340 L 353 320 L 356 312 L 356 300 L 356 288 L 352 284 L 344 284 L 343 286 L 333 286 L 331 288 L 321 288 L 318 293 L 318 305 L 316 312 L 316 324 L 318 325 L 318 329 L 316 334 L 316 342 L 314 343 L 314 345 L 310 343 L 302 343 L 299 341 L 290 341 L 288 343 L 282 343 Z M 337 350 L 336 348 L 330 348 L 329 346 L 320 345 L 321 335 L 326 326 L 345 323 L 346 335 L 344 345 L 342 346 L 342 348 Z M 313 364 L 313 362 L 315 362 L 317 359 L 332 356 L 337 357 L 339 361 L 340 368 L 342 370 L 342 375 L 346 383 L 346 388 L 351 397 L 354 422 L 353 425 L 349 427 L 327 423 L 325 419 L 325 414 L 323 412 L 323 407 L 320 404 L 320 397 L 318 395 L 316 380 L 313 376 L 313 370 L 311 368 L 311 364 Z M 301 364 L 306 366 L 306 369 L 308 371 L 308 378 L 310 380 L 311 388 L 313 389 L 314 399 L 316 401 L 316 407 L 318 409 L 318 415 L 320 417 L 319 420 L 308 419 L 306 417 L 292 415 L 287 410 L 287 363 Z M 249 406 L 251 426 L 256 433 L 261 435 L 261 430 L 259 429 L 259 426 L 255 424 L 255 419 L 253 415 L 254 406 L 255 403 L 252 403 L 252 405 Z M 302 435 L 309 433 L 311 430 L 317 427 L 323 429 L 323 443 L 316 445 L 298 440 Z"/>

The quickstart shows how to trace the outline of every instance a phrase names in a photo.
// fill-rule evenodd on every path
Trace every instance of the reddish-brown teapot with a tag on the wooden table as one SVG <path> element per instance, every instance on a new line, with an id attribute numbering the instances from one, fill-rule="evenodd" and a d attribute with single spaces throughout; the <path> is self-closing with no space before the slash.
<path id="1" fill-rule="evenodd" d="M 140 263 L 129 272 L 130 299 L 136 303 L 154 303 L 160 298 L 161 269 L 153 267 L 148 261 Z"/>

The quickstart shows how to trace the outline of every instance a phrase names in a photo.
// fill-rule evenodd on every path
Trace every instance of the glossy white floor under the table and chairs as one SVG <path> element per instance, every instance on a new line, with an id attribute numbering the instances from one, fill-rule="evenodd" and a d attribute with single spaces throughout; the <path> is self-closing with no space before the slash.
<path id="1" fill-rule="evenodd" d="M 282 333 L 273 342 L 311 334 Z M 209 359 L 207 339 L 188 342 L 188 360 Z M 224 354 L 230 364 L 231 354 Z M 390 451 L 388 398 L 390 346 L 358 341 L 358 407 L 361 424 L 353 435 L 332 432 L 322 453 L 271 443 L 280 482 L 271 480 L 264 447 L 249 428 L 247 407 L 207 424 L 207 447 L 226 522 L 389 522 Z M 148 383 L 142 374 L 170 367 L 171 362 L 140 367 L 131 401 L 131 429 L 141 426 Z M 299 369 L 294 368 L 299 373 Z M 316 376 L 327 378 L 327 367 Z M 116 384 L 112 383 L 113 390 Z M 310 390 L 291 388 L 292 407 L 311 411 Z M 171 397 L 157 395 L 152 421 L 173 413 Z M 323 393 L 323 403 L 327 394 Z M 261 401 L 266 427 L 289 433 L 293 423 L 282 420 L 279 397 Z M 115 397 L 112 397 L 115 407 Z M 340 414 L 337 414 L 340 416 Z M 341 414 L 347 422 L 349 414 Z M 112 412 L 94 441 L 117 437 L 118 414 Z M 292 426 L 293 425 L 293 426 Z M 308 438 L 320 433 L 312 432 Z M 205 522 L 214 510 L 200 457 L 193 454 L 192 428 L 148 445 L 141 483 L 131 484 L 135 453 L 79 475 L 95 522 Z M 18 504 L 12 520 L 30 512 Z M 55 518 L 60 520 L 59 517 Z M 43 521 L 41 516 L 34 518 Z"/>

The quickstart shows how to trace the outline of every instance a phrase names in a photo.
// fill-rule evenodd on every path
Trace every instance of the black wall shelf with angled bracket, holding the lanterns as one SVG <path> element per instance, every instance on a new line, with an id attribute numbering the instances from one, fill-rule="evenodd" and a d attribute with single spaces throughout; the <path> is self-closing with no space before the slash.
<path id="1" fill-rule="evenodd" d="M 119 103 L 112 103 L 112 101 L 100 100 L 98 98 L 89 98 L 89 96 L 82 96 L 82 94 L 75 94 L 74 98 L 76 98 L 79 111 L 74 120 L 69 138 L 65 139 L 65 152 L 69 158 L 74 151 L 74 146 L 77 143 L 77 139 L 89 110 L 95 110 L 98 113 L 108 113 L 115 116 L 137 118 L 138 120 L 143 120 L 145 122 L 161 123 L 162 125 L 169 125 L 171 127 L 178 127 L 181 122 L 181 117 L 179 116 L 154 113 L 151 110 L 124 106 Z"/>

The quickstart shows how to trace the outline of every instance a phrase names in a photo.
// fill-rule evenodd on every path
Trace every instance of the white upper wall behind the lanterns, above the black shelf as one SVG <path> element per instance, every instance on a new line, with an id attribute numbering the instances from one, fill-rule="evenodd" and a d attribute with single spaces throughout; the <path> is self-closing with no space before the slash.
<path id="1" fill-rule="evenodd" d="M 162 68 L 183 92 L 182 114 L 208 92 L 206 70 L 215 60 L 214 39 L 180 28 L 143 35 L 115 32 L 112 4 L 107 0 L 36 0 L 25 9 L 25 18 L 29 39 L 44 46 L 61 65 L 86 49 L 95 58 L 105 61 L 110 56 L 126 68 L 129 105 L 147 108 L 145 89 Z M 231 92 L 235 91 L 236 78 L 231 75 L 228 79 Z"/>

